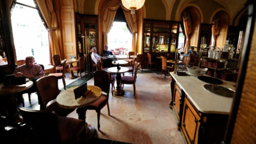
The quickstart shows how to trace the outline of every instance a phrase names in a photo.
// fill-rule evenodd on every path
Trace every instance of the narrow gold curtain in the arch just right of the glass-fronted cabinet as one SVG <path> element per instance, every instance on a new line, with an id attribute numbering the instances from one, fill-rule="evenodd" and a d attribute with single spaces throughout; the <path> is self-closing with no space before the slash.
<path id="1" fill-rule="evenodd" d="M 185 29 L 185 35 L 186 35 L 186 43 L 185 43 L 185 48 L 184 48 L 184 52 L 188 51 L 188 47 L 189 47 L 189 36 L 191 34 L 191 18 L 189 16 L 189 12 L 188 11 L 184 11 L 182 14 L 182 19 L 183 19 L 183 24 L 184 24 L 184 29 Z"/>

